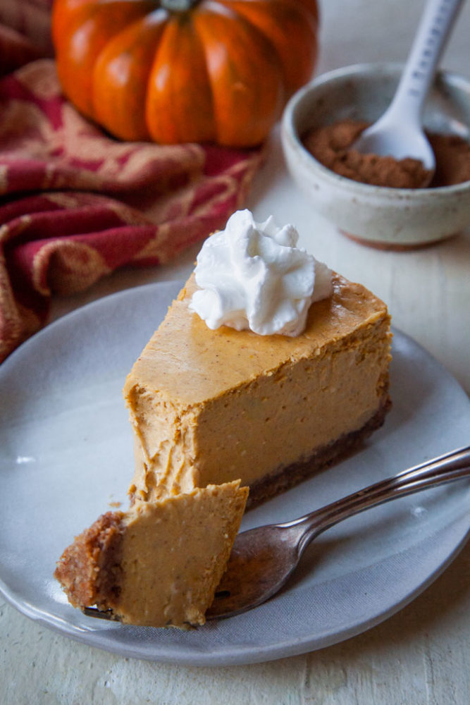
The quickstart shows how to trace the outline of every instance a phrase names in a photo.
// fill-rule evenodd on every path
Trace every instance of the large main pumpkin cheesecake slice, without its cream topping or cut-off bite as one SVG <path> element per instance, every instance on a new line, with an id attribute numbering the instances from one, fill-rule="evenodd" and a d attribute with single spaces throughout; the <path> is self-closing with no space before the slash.
<path id="1" fill-rule="evenodd" d="M 240 478 L 264 501 L 330 465 L 383 423 L 390 317 L 333 274 L 299 336 L 216 330 L 187 281 L 125 382 L 135 436 L 132 501 Z"/>

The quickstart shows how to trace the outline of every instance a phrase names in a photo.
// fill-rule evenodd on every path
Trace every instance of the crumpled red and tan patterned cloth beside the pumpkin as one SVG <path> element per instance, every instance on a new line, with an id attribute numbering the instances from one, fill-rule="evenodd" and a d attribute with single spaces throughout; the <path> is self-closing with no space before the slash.
<path id="1" fill-rule="evenodd" d="M 47 321 L 51 295 L 168 262 L 223 226 L 261 160 L 118 142 L 87 122 L 54 60 L 37 59 L 52 54 L 50 4 L 0 0 L 0 362 Z"/>

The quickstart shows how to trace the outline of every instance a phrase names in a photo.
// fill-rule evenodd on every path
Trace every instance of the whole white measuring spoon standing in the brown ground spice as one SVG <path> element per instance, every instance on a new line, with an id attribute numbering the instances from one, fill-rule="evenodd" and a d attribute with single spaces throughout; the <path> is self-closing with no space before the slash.
<path id="1" fill-rule="evenodd" d="M 464 0 L 428 0 L 407 63 L 390 106 L 352 149 L 381 157 L 419 159 L 431 180 L 435 157 L 421 118 L 423 103 L 452 25 Z"/>

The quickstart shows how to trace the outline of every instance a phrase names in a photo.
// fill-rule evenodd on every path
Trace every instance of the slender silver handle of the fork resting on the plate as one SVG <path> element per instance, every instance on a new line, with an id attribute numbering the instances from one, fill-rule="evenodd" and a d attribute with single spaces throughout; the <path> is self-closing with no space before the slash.
<path id="1" fill-rule="evenodd" d="M 452 450 L 451 453 L 440 455 L 421 465 L 415 465 L 394 477 L 369 485 L 326 507 L 280 526 L 300 529 L 300 556 L 312 539 L 348 517 L 392 499 L 467 476 L 470 476 L 470 446 Z"/>

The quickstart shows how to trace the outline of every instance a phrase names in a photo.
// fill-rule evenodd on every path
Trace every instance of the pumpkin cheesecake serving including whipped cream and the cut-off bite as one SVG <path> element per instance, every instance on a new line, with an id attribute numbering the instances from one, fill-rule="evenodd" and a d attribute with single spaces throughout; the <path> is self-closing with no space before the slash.
<path id="1" fill-rule="evenodd" d="M 385 304 L 237 212 L 125 381 L 135 436 L 127 512 L 58 562 L 69 601 L 118 620 L 204 624 L 249 496 L 278 494 L 378 428 L 390 405 Z"/>

